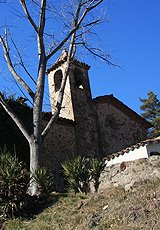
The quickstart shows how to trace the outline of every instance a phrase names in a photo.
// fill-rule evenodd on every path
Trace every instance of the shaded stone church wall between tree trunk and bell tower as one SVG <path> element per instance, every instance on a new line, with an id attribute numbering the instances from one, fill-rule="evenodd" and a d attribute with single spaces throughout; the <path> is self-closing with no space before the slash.
<path id="1" fill-rule="evenodd" d="M 57 121 L 43 143 L 42 163 L 57 172 L 66 159 L 74 156 L 77 156 L 74 124 Z"/>

